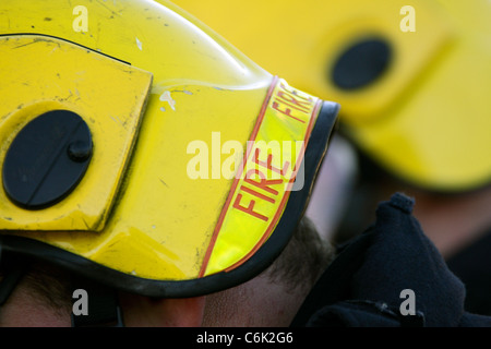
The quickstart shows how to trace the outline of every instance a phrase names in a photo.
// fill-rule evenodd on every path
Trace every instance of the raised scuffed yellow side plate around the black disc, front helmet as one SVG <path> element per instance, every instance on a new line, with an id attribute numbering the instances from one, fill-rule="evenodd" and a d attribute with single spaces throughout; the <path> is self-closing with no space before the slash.
<path id="1" fill-rule="evenodd" d="M 152 74 L 67 41 L 23 35 L 0 37 L 0 159 L 26 123 L 55 109 L 82 116 L 96 145 L 82 183 L 59 205 L 26 210 L 0 185 L 0 229 L 101 230 L 136 139 Z"/>

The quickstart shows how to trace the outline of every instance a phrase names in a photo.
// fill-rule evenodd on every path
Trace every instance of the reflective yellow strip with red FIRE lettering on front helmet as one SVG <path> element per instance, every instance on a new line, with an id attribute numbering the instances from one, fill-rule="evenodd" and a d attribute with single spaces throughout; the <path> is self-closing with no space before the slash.
<path id="1" fill-rule="evenodd" d="M 268 239 L 288 201 L 321 100 L 273 82 L 200 276 L 230 270 Z"/>

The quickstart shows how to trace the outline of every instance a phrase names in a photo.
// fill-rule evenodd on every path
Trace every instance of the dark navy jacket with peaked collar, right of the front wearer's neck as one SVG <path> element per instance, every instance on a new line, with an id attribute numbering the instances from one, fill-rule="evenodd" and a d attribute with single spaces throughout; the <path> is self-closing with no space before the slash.
<path id="1" fill-rule="evenodd" d="M 375 224 L 340 249 L 291 326 L 491 327 L 491 316 L 465 310 L 464 284 L 422 232 L 412 206 L 400 193 L 381 203 Z M 412 292 L 414 315 L 404 290 Z"/>

